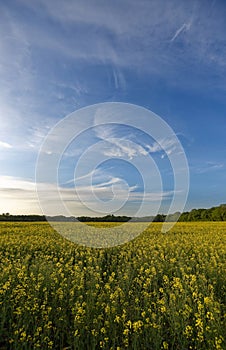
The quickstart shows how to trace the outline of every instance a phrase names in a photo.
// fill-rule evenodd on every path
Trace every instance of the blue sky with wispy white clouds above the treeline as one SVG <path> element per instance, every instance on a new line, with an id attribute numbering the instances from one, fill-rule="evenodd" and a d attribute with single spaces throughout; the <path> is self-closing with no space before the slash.
<path id="1" fill-rule="evenodd" d="M 83 132 L 57 169 L 67 215 L 167 212 L 186 194 L 170 162 L 177 142 L 190 172 L 184 210 L 226 203 L 225 13 L 220 0 L 0 1 L 0 213 L 62 213 L 49 159 L 72 113 L 74 133 L 80 124 Z M 145 108 L 146 125 L 103 124 L 99 112 L 94 123 L 79 112 L 103 103 Z M 147 134 L 148 110 L 176 138 Z"/>

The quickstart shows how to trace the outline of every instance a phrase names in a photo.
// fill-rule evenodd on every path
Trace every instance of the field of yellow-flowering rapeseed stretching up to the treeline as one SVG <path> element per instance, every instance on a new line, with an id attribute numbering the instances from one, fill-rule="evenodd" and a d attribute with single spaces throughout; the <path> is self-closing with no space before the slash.
<path id="1" fill-rule="evenodd" d="M 226 349 L 226 223 L 160 229 L 94 249 L 1 223 L 0 349 Z"/>

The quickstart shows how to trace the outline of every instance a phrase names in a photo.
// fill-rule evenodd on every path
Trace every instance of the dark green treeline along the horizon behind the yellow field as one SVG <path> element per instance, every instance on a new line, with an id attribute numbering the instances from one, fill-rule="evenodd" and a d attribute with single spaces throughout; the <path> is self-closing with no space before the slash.
<path id="1" fill-rule="evenodd" d="M 25 222 L 37 222 L 37 221 L 61 221 L 61 222 L 127 222 L 129 220 L 133 222 L 164 222 L 164 221 L 226 221 L 226 204 L 221 204 L 218 207 L 210 209 L 192 209 L 190 212 L 174 213 L 166 216 L 165 214 L 158 214 L 156 216 L 145 216 L 141 218 L 131 218 L 129 216 L 115 216 L 105 215 L 103 217 L 66 217 L 63 215 L 58 216 L 44 216 L 44 215 L 10 215 L 9 213 L 3 213 L 0 215 L 0 221 L 25 221 Z"/>

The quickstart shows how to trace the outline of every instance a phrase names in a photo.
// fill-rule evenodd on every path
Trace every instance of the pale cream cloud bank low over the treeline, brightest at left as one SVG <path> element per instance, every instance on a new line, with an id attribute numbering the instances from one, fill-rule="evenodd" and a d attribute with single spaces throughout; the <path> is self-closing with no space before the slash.
<path id="1" fill-rule="evenodd" d="M 42 200 L 48 203 L 48 213 L 46 214 L 51 213 L 51 215 L 62 214 L 60 211 L 62 206 L 58 205 L 59 193 L 61 200 L 68 209 L 68 213 L 71 213 L 71 215 L 92 215 L 86 205 L 88 205 L 88 207 L 89 205 L 95 205 L 96 201 L 102 201 L 102 207 L 106 208 L 107 211 L 109 204 L 106 207 L 104 201 L 113 200 L 114 206 L 117 206 L 118 203 L 125 200 L 126 192 L 128 192 L 128 206 L 136 207 L 139 203 L 143 203 L 143 205 L 146 206 L 146 210 L 148 208 L 149 213 L 151 210 L 151 203 L 154 204 L 161 200 L 167 200 L 173 196 L 173 191 L 147 191 L 143 193 L 142 191 L 138 191 L 136 186 L 125 187 L 123 181 L 115 177 L 112 177 L 107 182 L 91 186 L 79 186 L 79 197 L 76 195 L 74 188 L 65 188 L 49 183 L 40 185 L 39 190 L 41 191 Z M 96 197 L 91 196 L 91 193 L 95 193 Z M 36 183 L 33 181 L 12 176 L 0 176 L 0 196 L 0 212 L 10 212 L 11 214 L 42 213 L 39 207 Z M 81 202 L 81 196 L 83 202 Z M 153 208 L 155 208 L 155 206 Z M 128 214 L 130 214 L 130 212 L 128 212 Z"/>

